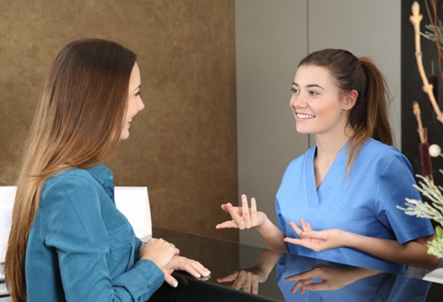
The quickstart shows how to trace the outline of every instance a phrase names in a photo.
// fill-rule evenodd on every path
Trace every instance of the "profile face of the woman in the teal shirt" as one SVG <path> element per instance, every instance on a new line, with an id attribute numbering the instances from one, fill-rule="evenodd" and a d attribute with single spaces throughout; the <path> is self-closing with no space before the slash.
<path id="1" fill-rule="evenodd" d="M 131 126 L 132 117 L 134 117 L 138 111 L 143 110 L 145 105 L 141 100 L 141 77 L 138 64 L 134 64 L 132 68 L 131 77 L 129 78 L 129 89 L 127 96 L 127 108 L 125 114 L 125 121 L 123 124 L 123 131 L 120 135 L 120 140 L 126 140 L 129 138 L 129 127 Z"/>

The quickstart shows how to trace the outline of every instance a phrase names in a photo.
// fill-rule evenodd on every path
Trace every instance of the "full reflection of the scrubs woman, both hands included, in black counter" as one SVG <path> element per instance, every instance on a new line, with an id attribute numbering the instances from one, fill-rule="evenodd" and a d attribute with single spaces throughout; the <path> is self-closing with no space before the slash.
<path id="1" fill-rule="evenodd" d="M 217 279 L 231 288 L 259 293 L 276 267 L 285 301 L 425 301 L 431 283 L 407 276 L 352 267 L 316 258 L 263 249 L 253 267 Z"/>

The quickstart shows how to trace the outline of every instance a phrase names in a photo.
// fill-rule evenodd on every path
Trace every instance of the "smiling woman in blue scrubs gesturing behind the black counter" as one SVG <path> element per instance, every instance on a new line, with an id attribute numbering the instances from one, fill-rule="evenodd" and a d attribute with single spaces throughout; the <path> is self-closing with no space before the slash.
<path id="1" fill-rule="evenodd" d="M 274 249 L 383 272 L 435 268 L 430 221 L 397 209 L 420 196 L 410 163 L 391 147 L 386 99 L 368 58 L 325 49 L 302 59 L 289 105 L 297 131 L 314 134 L 316 145 L 284 172 L 278 227 L 244 195 L 242 207 L 221 205 L 232 220 L 216 227 L 255 227 Z"/>

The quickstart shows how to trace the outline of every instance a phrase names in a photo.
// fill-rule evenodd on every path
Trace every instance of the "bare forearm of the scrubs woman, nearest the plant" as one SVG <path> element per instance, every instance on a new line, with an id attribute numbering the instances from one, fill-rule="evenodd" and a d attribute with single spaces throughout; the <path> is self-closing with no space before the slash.
<path id="1" fill-rule="evenodd" d="M 345 246 L 386 259 L 395 263 L 422 267 L 433 270 L 438 258 L 428 255 L 426 243 L 416 240 L 399 244 L 397 240 L 388 240 L 345 232 Z"/>

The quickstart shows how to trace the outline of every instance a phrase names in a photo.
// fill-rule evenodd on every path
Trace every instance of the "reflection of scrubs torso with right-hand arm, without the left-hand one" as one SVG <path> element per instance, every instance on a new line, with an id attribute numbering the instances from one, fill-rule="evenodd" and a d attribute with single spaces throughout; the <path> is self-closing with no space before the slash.
<path id="1" fill-rule="evenodd" d="M 293 254 L 278 260 L 277 283 L 285 301 L 425 301 L 431 287 L 403 275 Z"/>

